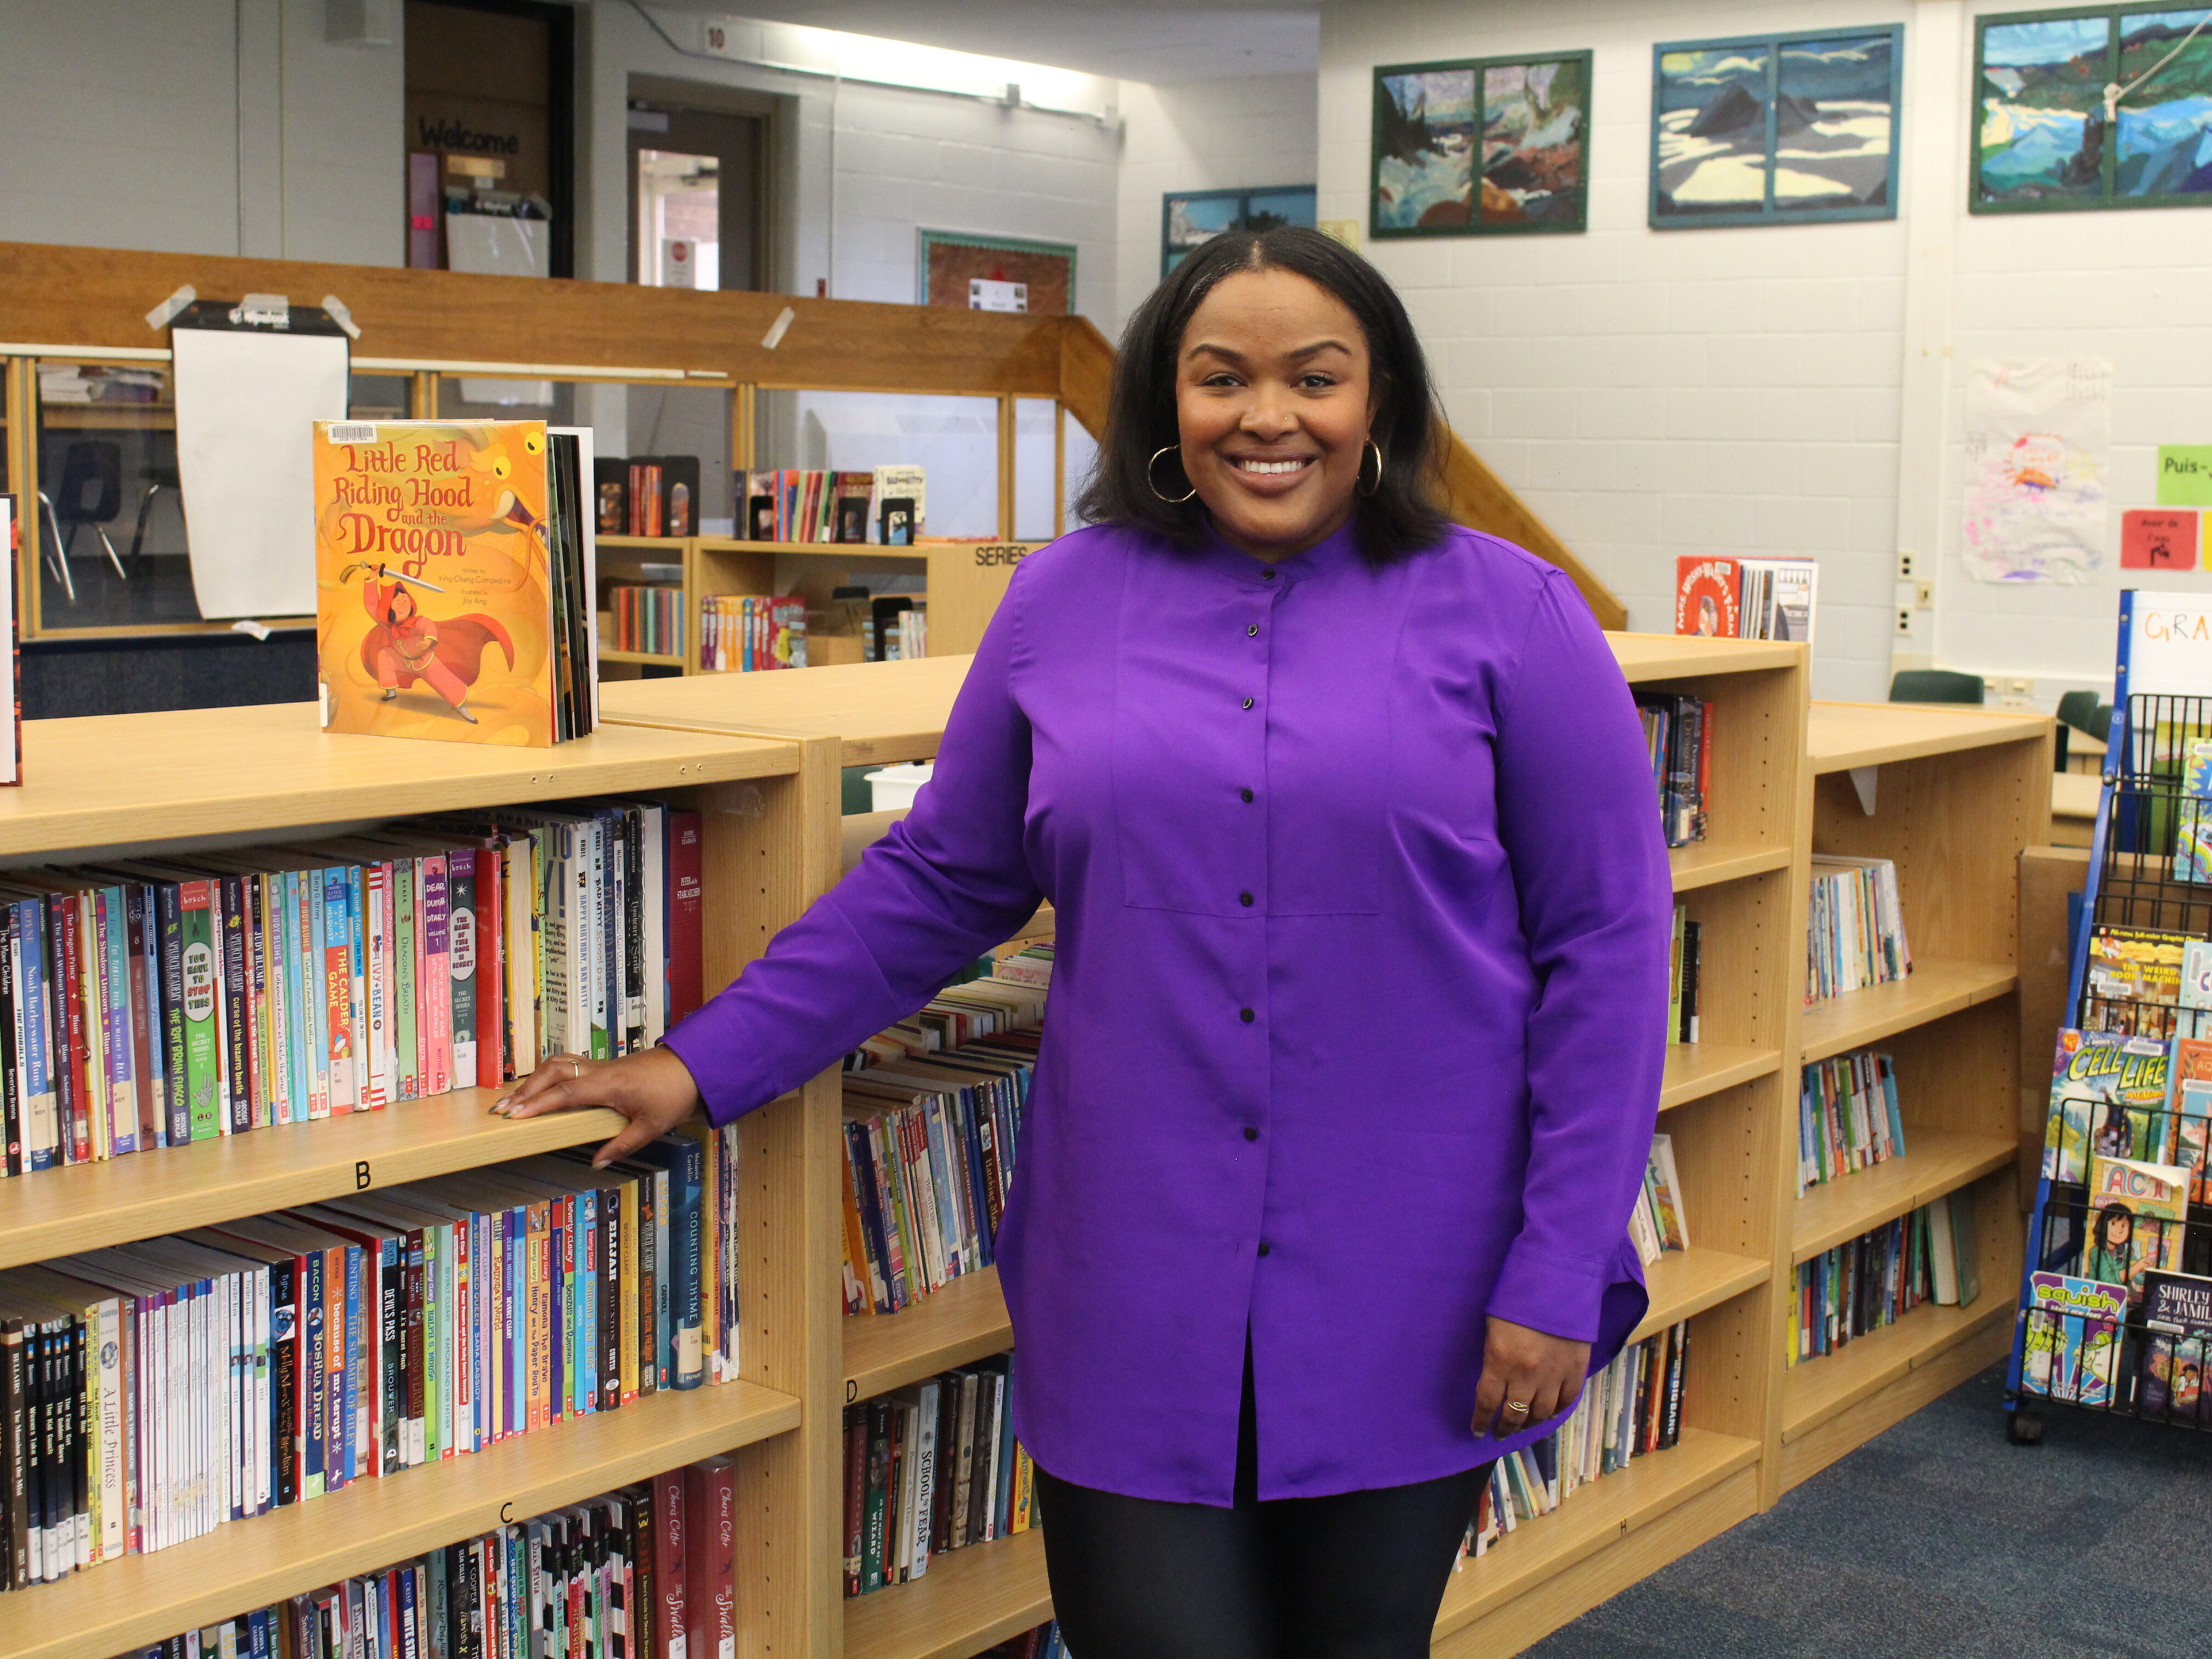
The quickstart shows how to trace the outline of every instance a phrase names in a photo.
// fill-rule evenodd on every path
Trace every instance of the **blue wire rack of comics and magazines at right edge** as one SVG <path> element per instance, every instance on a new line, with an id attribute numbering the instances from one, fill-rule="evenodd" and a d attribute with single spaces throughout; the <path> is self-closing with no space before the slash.
<path id="1" fill-rule="evenodd" d="M 2194 779 L 2192 743 L 2205 743 Z M 2212 849 L 2212 799 L 2190 792 L 2192 781 L 2205 787 L 2208 757 L 2212 697 L 2128 697 L 2124 717 L 2115 710 L 2066 1004 L 2077 1031 L 2137 1037 L 2137 1053 L 2150 1057 L 2174 1037 L 2212 1040 L 2212 1009 L 2174 1002 L 2150 964 L 2124 987 L 2110 973 L 2099 984 L 2088 973 L 2090 938 L 2097 927 L 2121 927 L 2212 940 L 2212 863 L 2197 856 L 2199 845 Z M 2141 1290 L 2143 1270 L 2212 1276 L 2212 1091 L 2190 1099 L 2174 1084 L 2168 1093 L 2152 1108 L 2112 1073 L 2079 1117 L 2053 1106 L 2004 1378 L 2015 1444 L 2042 1440 L 2042 1413 L 2053 1407 L 2212 1431 L 2212 1332 L 2152 1318 Z M 2190 1166 L 2183 1217 L 2099 1208 L 2088 1179 L 2097 1155 Z M 2079 1283 L 2126 1290 L 2130 1276 L 2132 1296 L 2099 1298 Z"/>

